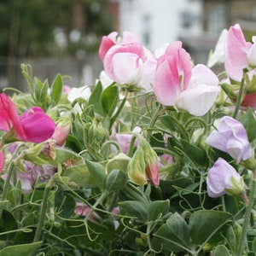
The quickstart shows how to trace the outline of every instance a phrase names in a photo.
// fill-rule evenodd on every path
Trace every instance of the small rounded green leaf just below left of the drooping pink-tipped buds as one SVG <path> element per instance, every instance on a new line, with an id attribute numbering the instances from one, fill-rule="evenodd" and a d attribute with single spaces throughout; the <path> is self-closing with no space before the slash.
<path id="1" fill-rule="evenodd" d="M 114 169 L 107 176 L 106 189 L 108 191 L 121 190 L 125 187 L 126 182 L 127 182 L 127 177 L 125 175 L 125 172 Z"/>

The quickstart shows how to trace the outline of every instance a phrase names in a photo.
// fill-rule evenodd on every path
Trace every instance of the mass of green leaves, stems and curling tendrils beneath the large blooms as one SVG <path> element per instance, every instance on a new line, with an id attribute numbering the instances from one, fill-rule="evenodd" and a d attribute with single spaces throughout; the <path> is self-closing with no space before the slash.
<path id="1" fill-rule="evenodd" d="M 218 156 L 236 167 L 247 188 L 254 184 L 248 163 L 235 163 L 205 143 L 222 110 L 195 118 L 163 108 L 151 94 L 124 93 L 119 84 L 103 90 L 101 82 L 89 100 L 79 96 L 70 103 L 67 96 L 63 100 L 61 74 L 49 83 L 33 77 L 30 66 L 21 70 L 29 93 L 13 97 L 19 113 L 38 106 L 55 123 L 67 119 L 71 129 L 63 146 L 52 137 L 44 143 L 16 141 L 14 152 L 9 144 L 0 146 L 6 155 L 0 256 L 238 253 L 246 198 L 207 194 L 207 172 Z M 241 112 L 240 120 L 253 145 L 253 110 Z M 136 126 L 142 131 L 134 131 Z M 144 183 L 136 183 L 131 172 Z M 160 174 L 157 185 L 155 174 Z M 27 184 L 31 189 L 25 193 Z M 254 213 L 244 249 L 250 256 L 256 255 Z"/>

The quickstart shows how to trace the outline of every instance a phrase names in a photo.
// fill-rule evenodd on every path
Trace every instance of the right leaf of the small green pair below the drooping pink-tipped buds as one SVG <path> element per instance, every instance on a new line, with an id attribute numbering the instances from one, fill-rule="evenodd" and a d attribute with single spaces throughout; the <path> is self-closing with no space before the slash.
<path id="1" fill-rule="evenodd" d="M 161 216 L 166 215 L 169 212 L 170 201 L 153 201 L 148 207 L 148 218 L 149 220 L 156 220 Z"/>

